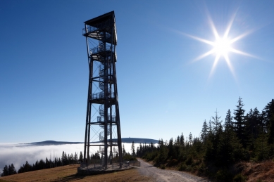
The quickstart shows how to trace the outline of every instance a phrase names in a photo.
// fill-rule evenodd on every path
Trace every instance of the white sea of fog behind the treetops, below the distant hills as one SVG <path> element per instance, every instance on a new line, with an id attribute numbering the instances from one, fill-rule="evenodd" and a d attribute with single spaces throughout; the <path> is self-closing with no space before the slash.
<path id="1" fill-rule="evenodd" d="M 126 152 L 131 152 L 131 143 L 123 143 Z M 135 150 L 139 143 L 135 143 Z M 95 153 L 99 147 L 90 148 L 89 153 Z M 23 166 L 27 161 L 29 164 L 34 164 L 37 160 L 53 160 L 54 157 L 62 156 L 62 153 L 75 154 L 78 157 L 80 151 L 84 153 L 84 144 L 66 144 L 66 145 L 26 145 L 20 143 L 0 143 L 0 172 L 3 172 L 5 165 L 13 163 L 16 170 Z"/>

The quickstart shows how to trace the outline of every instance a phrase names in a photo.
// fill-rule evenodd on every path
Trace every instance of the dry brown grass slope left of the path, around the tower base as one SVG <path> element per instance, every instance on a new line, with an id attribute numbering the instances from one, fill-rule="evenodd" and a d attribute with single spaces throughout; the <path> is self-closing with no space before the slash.
<path id="1" fill-rule="evenodd" d="M 118 171 L 110 174 L 99 174 L 94 176 L 77 176 L 77 167 L 79 165 L 68 165 L 64 167 L 56 167 L 51 169 L 44 169 L 38 171 L 30 171 L 22 174 L 14 174 L 0 178 L 0 182 L 6 181 L 153 181 L 152 178 L 139 175 L 137 169 L 128 169 L 125 171 Z"/>

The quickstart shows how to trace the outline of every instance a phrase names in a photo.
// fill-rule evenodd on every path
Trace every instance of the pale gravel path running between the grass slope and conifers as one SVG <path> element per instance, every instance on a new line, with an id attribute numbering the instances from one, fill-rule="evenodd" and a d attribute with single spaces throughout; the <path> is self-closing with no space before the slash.
<path id="1" fill-rule="evenodd" d="M 207 182 L 207 179 L 187 174 L 182 171 L 173 171 L 168 169 L 158 169 L 151 164 L 138 159 L 141 162 L 141 167 L 138 169 L 139 173 L 144 176 L 150 176 L 153 181 L 182 181 L 182 182 Z"/>

